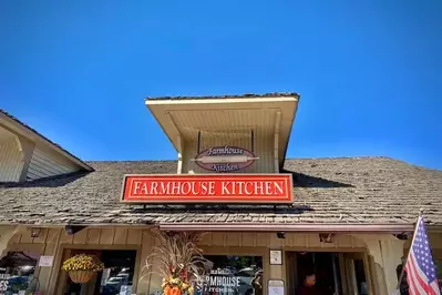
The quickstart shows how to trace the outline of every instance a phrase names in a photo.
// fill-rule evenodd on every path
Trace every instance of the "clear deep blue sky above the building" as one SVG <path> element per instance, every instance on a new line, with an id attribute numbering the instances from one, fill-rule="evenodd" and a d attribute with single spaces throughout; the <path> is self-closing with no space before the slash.
<path id="1" fill-rule="evenodd" d="M 0 1 L 0 108 L 83 160 L 176 159 L 145 96 L 295 91 L 289 157 L 442 169 L 442 1 Z"/>

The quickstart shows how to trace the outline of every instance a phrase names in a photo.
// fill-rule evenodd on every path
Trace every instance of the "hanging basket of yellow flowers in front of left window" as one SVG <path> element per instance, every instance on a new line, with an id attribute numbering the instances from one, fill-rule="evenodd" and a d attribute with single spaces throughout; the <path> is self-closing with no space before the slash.
<path id="1" fill-rule="evenodd" d="M 72 282 L 82 284 L 104 268 L 104 264 L 95 255 L 79 254 L 63 262 L 61 267 L 68 272 Z"/>

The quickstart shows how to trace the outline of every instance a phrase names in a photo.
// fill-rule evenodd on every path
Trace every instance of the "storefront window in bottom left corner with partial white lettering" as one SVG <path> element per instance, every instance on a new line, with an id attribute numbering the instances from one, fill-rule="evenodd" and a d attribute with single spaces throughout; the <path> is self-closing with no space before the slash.
<path id="1" fill-rule="evenodd" d="M 35 272 L 38 254 L 9 252 L 0 261 L 0 295 L 29 294 L 38 286 Z"/>

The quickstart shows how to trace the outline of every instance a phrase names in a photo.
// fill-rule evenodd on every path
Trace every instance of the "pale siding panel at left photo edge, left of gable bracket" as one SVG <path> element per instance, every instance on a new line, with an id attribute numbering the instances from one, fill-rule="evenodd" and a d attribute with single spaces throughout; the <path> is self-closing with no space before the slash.
<path id="1" fill-rule="evenodd" d="M 0 142 L 0 182 L 17 182 L 23 162 L 14 139 Z"/>

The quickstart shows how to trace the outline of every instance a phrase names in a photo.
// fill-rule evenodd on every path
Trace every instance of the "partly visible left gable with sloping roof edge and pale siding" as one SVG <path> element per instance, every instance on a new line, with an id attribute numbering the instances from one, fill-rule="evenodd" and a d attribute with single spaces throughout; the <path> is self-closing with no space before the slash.
<path id="1" fill-rule="evenodd" d="M 92 171 L 76 156 L 0 110 L 0 183 Z"/>

